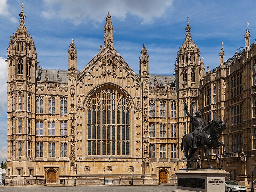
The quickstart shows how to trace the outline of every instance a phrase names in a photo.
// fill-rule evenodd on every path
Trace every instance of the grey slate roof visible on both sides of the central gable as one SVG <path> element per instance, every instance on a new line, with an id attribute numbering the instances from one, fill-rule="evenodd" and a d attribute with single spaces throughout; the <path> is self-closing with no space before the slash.
<path id="1" fill-rule="evenodd" d="M 60 82 L 68 82 L 68 71 L 67 70 L 58 70 L 58 69 L 39 69 L 36 71 L 37 81 L 44 81 L 45 71 L 47 71 L 47 79 L 48 81 L 56 81 L 57 73 L 59 71 Z M 79 71 L 77 71 L 79 72 Z M 156 81 L 158 81 L 159 86 L 164 86 L 165 84 L 165 76 L 166 75 L 149 75 L 149 84 L 152 86 L 155 84 L 155 76 Z M 167 81 L 170 85 L 174 82 L 174 76 L 166 76 Z"/>

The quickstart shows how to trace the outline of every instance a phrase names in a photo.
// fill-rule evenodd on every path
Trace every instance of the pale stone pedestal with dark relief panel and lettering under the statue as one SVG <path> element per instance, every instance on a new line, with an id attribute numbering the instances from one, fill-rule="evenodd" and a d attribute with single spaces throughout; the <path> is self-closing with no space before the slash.
<path id="1" fill-rule="evenodd" d="M 229 173 L 218 168 L 195 168 L 179 169 L 176 174 L 177 189 L 172 192 L 217 192 L 225 191 L 225 176 Z"/>

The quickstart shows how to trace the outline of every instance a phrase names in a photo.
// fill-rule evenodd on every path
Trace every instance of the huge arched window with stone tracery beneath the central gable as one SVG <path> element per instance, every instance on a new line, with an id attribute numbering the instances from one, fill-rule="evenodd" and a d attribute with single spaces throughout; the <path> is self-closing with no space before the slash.
<path id="1" fill-rule="evenodd" d="M 103 89 L 87 104 L 87 153 L 130 155 L 130 105 L 116 90 Z"/>

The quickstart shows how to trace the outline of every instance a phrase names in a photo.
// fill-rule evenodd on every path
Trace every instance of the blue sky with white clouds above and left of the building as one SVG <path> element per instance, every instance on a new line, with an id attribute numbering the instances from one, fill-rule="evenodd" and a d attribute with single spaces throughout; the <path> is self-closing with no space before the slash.
<path id="1" fill-rule="evenodd" d="M 173 74 L 188 16 L 191 36 L 204 58 L 205 69 L 207 65 L 211 70 L 220 64 L 221 42 L 225 60 L 243 49 L 247 22 L 251 42 L 256 38 L 253 0 L 0 0 L 0 161 L 7 157 L 5 60 L 10 36 L 19 25 L 21 3 L 37 61 L 43 68 L 67 69 L 69 44 L 74 39 L 77 69 L 83 69 L 99 52 L 100 45 L 104 46 L 103 26 L 108 12 L 114 27 L 113 46 L 136 73 L 145 44 L 149 73 Z"/>

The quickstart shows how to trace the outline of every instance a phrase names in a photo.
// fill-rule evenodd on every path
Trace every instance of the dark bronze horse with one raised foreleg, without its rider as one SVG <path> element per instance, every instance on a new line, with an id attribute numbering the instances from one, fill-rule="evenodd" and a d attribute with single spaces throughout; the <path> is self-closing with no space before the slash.
<path id="1" fill-rule="evenodd" d="M 225 150 L 225 144 L 224 142 L 219 142 L 219 138 L 221 133 L 226 129 L 226 123 L 227 120 L 222 121 L 221 119 L 213 119 L 206 127 L 205 131 L 201 133 L 199 140 L 197 140 L 197 148 L 204 149 L 204 154 L 207 159 L 207 163 L 209 165 L 209 168 L 213 168 L 209 161 L 208 156 L 208 149 L 209 148 L 218 148 L 222 145 L 223 147 L 223 157 L 226 157 L 226 150 Z M 196 152 L 197 148 L 192 148 L 192 137 L 193 133 L 188 133 L 183 136 L 180 150 L 183 150 L 183 148 L 186 151 L 186 158 L 188 160 L 187 162 L 187 168 L 191 168 L 190 164 L 190 158 L 191 156 Z M 188 149 L 190 149 L 190 153 L 188 154 Z"/>

